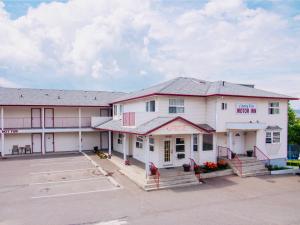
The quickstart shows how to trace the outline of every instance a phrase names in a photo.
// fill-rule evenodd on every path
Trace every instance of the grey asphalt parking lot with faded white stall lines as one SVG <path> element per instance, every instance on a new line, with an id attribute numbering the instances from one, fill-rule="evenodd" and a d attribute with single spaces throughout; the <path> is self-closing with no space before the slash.
<path id="1" fill-rule="evenodd" d="M 0 225 L 299 225 L 300 177 L 227 176 L 145 192 L 81 154 L 0 161 Z"/>

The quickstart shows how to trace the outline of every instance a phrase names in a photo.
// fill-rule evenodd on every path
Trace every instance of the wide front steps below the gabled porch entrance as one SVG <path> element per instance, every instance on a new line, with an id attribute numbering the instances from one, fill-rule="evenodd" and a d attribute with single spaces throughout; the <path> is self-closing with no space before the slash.
<path id="1" fill-rule="evenodd" d="M 146 191 L 184 187 L 199 184 L 199 180 L 193 171 L 184 172 L 182 168 L 159 169 L 159 181 L 157 176 L 149 176 L 144 189 Z"/>

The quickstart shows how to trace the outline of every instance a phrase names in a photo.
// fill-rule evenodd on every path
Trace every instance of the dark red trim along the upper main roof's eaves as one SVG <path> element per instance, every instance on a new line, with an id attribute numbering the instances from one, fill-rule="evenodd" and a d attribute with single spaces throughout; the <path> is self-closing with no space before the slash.
<path id="1" fill-rule="evenodd" d="M 267 99 L 286 99 L 286 100 L 299 100 L 299 98 L 284 98 L 284 97 L 266 97 L 266 96 L 253 96 L 253 95 L 229 95 L 229 94 L 212 94 L 212 95 L 188 95 L 188 94 L 171 94 L 171 93 L 152 93 L 147 95 L 141 95 L 133 98 L 128 98 L 120 101 L 115 101 L 110 104 L 116 104 L 120 102 L 131 101 L 140 98 L 146 98 L 150 96 L 161 95 L 161 96 L 180 96 L 180 97 L 213 97 L 213 96 L 228 96 L 228 97 L 242 97 L 242 98 L 267 98 Z"/>

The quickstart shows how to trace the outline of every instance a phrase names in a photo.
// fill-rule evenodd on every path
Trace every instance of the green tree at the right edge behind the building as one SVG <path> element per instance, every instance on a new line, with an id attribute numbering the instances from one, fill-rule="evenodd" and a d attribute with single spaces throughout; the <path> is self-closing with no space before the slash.
<path id="1" fill-rule="evenodd" d="M 300 145 L 300 120 L 289 105 L 288 109 L 288 143 Z"/>

